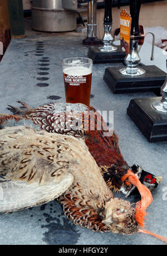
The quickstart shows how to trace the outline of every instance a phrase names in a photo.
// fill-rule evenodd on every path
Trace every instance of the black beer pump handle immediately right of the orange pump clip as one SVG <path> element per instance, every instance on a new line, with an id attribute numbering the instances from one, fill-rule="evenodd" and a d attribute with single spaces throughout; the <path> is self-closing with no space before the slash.
<path id="1" fill-rule="evenodd" d="M 131 36 L 139 36 L 139 13 L 142 0 L 130 0 Z"/>

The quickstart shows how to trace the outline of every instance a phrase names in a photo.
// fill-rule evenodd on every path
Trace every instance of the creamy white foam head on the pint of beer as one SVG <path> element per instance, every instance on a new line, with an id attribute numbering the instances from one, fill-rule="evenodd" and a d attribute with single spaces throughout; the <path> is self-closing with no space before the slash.
<path id="1" fill-rule="evenodd" d="M 67 67 L 63 69 L 63 73 L 67 75 L 79 76 L 79 75 L 89 75 L 91 74 L 91 67 Z"/>

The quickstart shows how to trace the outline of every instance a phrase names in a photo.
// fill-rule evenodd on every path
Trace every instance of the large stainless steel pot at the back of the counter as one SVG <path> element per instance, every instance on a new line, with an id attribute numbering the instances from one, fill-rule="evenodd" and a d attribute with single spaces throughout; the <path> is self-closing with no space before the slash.
<path id="1" fill-rule="evenodd" d="M 77 0 L 33 0 L 33 30 L 64 32 L 75 30 Z"/>

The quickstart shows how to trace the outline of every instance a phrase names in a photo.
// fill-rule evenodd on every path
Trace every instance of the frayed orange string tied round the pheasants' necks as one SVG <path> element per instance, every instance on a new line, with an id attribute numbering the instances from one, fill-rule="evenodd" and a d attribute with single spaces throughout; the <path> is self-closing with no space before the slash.
<path id="1" fill-rule="evenodd" d="M 125 181 L 127 178 L 129 179 L 129 182 Z M 143 184 L 141 184 L 139 179 L 135 176 L 135 174 L 133 172 L 131 172 L 131 170 L 127 170 L 127 173 L 124 176 L 122 176 L 121 181 L 122 182 L 125 181 L 125 183 L 127 185 L 129 185 L 131 183 L 134 186 L 136 186 L 137 189 L 139 190 L 140 195 L 141 195 L 141 201 L 136 203 L 135 219 L 136 219 L 137 223 L 139 224 L 139 226 L 144 227 L 144 220 L 145 220 L 144 217 L 147 214 L 145 210 L 150 205 L 150 203 L 153 202 L 153 197 L 151 195 L 151 192 L 148 188 L 146 188 Z M 151 231 L 148 231 L 145 229 L 139 229 L 138 231 L 140 233 L 153 235 L 156 238 L 167 242 L 167 239 L 164 238 L 164 236 L 157 235 Z"/>

